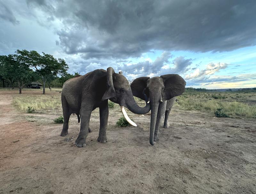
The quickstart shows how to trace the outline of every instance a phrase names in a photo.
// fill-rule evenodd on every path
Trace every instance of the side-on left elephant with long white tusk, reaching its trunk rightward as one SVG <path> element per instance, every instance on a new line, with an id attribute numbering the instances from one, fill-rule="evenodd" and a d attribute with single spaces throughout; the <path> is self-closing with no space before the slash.
<path id="1" fill-rule="evenodd" d="M 107 71 L 97 69 L 83 76 L 68 79 L 64 83 L 61 93 L 64 123 L 60 135 L 68 134 L 69 117 L 75 113 L 78 122 L 81 117 L 80 131 L 75 144 L 77 147 L 86 146 L 91 113 L 95 108 L 99 108 L 100 131 L 97 140 L 101 143 L 107 142 L 108 99 L 121 106 L 125 119 L 133 126 L 137 125 L 127 116 L 124 107 L 139 115 L 150 111 L 149 104 L 145 107 L 137 105 L 130 84 L 122 72 L 115 73 L 112 67 L 108 67 Z"/>

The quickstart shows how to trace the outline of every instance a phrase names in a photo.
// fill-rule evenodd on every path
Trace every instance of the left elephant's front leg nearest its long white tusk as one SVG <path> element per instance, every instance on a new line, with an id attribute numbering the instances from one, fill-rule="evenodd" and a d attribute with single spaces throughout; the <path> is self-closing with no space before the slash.
<path id="1" fill-rule="evenodd" d="M 106 143 L 107 140 L 107 126 L 108 126 L 108 99 L 100 106 L 100 132 L 98 142 Z"/>

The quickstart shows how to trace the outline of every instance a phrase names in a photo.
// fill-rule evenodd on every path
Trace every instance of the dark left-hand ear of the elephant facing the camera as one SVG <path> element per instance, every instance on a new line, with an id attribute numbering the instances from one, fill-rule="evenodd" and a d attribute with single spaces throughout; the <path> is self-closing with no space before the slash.
<path id="1" fill-rule="evenodd" d="M 133 80 L 131 84 L 132 95 L 145 100 L 143 90 L 147 87 L 149 77 L 140 77 Z"/>

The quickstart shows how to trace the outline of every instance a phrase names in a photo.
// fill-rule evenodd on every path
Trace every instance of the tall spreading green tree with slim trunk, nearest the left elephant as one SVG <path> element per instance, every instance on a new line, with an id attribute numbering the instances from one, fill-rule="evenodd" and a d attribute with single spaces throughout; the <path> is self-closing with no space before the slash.
<path id="1" fill-rule="evenodd" d="M 64 59 L 55 59 L 52 55 L 40 55 L 34 50 L 17 50 L 16 53 L 29 67 L 33 68 L 35 72 L 43 80 L 43 94 L 45 94 L 45 83 L 57 75 L 64 75 L 68 70 L 68 65 Z"/>

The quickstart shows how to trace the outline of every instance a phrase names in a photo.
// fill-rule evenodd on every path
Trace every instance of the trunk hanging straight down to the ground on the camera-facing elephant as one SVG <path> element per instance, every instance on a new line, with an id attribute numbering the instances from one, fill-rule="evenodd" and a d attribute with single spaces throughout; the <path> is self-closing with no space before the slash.
<path id="1" fill-rule="evenodd" d="M 151 95 L 152 96 L 152 95 Z M 150 118 L 150 134 L 149 134 L 149 143 L 153 146 L 154 145 L 154 133 L 156 128 L 156 118 L 157 112 L 159 107 L 159 99 L 151 98 L 151 118 Z"/>

